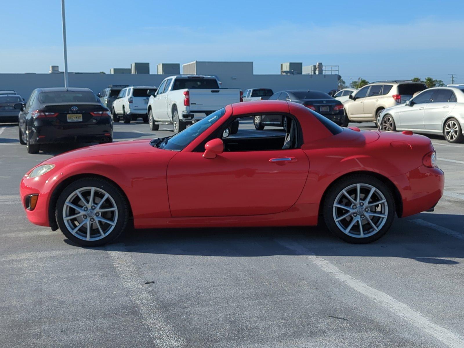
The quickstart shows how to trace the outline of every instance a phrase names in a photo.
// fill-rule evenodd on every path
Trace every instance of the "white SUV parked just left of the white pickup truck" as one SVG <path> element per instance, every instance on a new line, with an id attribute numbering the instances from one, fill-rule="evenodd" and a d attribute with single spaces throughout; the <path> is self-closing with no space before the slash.
<path id="1" fill-rule="evenodd" d="M 119 122 L 120 117 L 124 123 L 130 123 L 142 117 L 148 122 L 147 105 L 150 95 L 155 94 L 155 86 L 130 86 L 123 88 L 111 106 L 113 121 Z"/>

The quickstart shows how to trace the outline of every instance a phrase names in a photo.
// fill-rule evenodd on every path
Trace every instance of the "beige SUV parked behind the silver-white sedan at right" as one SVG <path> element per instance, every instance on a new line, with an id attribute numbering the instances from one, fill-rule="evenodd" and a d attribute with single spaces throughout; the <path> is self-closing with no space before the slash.
<path id="1" fill-rule="evenodd" d="M 345 127 L 348 122 L 375 122 L 380 112 L 386 108 L 406 103 L 406 100 L 427 87 L 421 82 L 410 80 L 379 81 L 367 84 L 349 96 L 343 103 L 345 110 Z"/>

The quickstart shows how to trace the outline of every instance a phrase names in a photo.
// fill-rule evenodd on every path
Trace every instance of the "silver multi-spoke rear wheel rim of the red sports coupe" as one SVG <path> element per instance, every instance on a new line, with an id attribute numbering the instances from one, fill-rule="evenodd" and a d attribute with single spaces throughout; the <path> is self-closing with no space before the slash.
<path id="1" fill-rule="evenodd" d="M 345 187 L 334 201 L 335 225 L 354 238 L 367 238 L 385 225 L 388 204 L 383 193 L 369 184 L 353 184 Z"/>

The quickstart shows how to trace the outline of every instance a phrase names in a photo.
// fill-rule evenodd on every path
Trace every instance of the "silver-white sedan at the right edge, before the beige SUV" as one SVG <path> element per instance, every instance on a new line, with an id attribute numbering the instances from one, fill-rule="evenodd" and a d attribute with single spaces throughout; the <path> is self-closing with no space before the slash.
<path id="1" fill-rule="evenodd" d="M 405 104 L 382 110 L 380 130 L 442 134 L 448 142 L 464 141 L 464 86 L 423 90 Z"/>

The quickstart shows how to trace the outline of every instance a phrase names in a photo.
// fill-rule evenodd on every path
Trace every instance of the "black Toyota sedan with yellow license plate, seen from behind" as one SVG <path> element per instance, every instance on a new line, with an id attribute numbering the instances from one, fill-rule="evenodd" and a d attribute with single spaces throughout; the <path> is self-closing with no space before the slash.
<path id="1" fill-rule="evenodd" d="M 41 144 L 113 141 L 110 110 L 88 88 L 38 88 L 14 108 L 21 110 L 19 142 L 30 154 Z"/>

